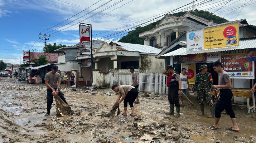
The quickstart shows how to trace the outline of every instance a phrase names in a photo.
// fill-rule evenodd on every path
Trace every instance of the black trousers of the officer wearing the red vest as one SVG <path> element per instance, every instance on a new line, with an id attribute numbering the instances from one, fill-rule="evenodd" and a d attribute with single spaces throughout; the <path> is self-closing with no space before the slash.
<path id="1" fill-rule="evenodd" d="M 174 104 L 176 107 L 180 107 L 178 86 L 168 88 L 168 101 L 170 104 Z"/>

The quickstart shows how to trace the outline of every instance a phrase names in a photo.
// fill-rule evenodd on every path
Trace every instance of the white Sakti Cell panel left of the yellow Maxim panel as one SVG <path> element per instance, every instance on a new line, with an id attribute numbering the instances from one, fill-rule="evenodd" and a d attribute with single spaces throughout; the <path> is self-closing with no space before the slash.
<path id="1" fill-rule="evenodd" d="M 188 32 L 187 51 L 202 50 L 204 46 L 203 30 Z"/>

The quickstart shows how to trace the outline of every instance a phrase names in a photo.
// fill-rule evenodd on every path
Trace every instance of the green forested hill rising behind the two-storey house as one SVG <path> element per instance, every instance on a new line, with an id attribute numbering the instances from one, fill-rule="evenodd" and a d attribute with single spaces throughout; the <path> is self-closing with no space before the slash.
<path id="1" fill-rule="evenodd" d="M 225 23 L 228 22 L 228 20 L 221 18 L 219 16 L 216 16 L 209 11 L 203 11 L 203 10 L 194 10 L 194 11 L 181 11 L 179 13 L 172 14 L 174 16 L 183 16 L 186 12 L 189 12 L 193 15 L 199 16 L 201 18 L 207 19 L 207 20 L 212 20 L 214 23 Z M 143 33 L 144 31 L 150 30 L 152 28 L 155 28 L 155 25 L 158 24 L 161 20 L 158 20 L 154 23 L 151 23 L 146 26 L 139 26 L 136 27 L 134 30 L 129 31 L 126 36 L 123 36 L 119 42 L 123 43 L 132 43 L 132 44 L 141 44 L 144 45 L 144 40 L 143 38 L 139 38 L 139 33 Z"/>

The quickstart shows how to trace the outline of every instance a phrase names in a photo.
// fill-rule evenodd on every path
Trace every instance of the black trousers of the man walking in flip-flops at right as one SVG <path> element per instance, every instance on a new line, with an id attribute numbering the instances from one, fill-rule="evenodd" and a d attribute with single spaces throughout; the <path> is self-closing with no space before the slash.
<path id="1" fill-rule="evenodd" d="M 216 103 L 215 107 L 215 117 L 221 118 L 221 112 L 223 110 L 226 110 L 226 113 L 230 115 L 230 118 L 236 118 L 235 112 L 232 109 L 231 99 L 233 97 L 233 94 L 231 92 L 231 89 L 219 89 L 219 100 Z"/>

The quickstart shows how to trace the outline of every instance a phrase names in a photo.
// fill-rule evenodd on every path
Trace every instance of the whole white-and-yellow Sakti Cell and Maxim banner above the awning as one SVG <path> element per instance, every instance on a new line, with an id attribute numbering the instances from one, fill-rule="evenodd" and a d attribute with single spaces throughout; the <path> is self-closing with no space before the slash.
<path id="1" fill-rule="evenodd" d="M 238 23 L 187 33 L 187 51 L 239 46 Z"/>

